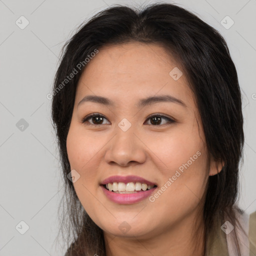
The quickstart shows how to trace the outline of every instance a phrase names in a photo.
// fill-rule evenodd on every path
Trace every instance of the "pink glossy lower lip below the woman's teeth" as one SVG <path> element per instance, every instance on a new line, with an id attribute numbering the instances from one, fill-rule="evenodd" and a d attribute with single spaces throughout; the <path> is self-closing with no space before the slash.
<path id="1" fill-rule="evenodd" d="M 151 188 L 145 191 L 139 191 L 135 193 L 127 193 L 127 194 L 119 194 L 112 191 L 107 190 L 103 185 L 101 188 L 108 199 L 113 202 L 120 203 L 120 204 L 131 204 L 138 201 L 141 201 L 148 197 L 157 187 Z"/>

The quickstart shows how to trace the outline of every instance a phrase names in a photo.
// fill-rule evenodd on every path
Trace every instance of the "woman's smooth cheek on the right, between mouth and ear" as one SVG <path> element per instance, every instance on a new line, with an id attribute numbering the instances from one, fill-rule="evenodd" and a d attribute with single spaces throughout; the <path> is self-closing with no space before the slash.
<path id="1" fill-rule="evenodd" d="M 173 134 L 158 141 L 160 143 L 154 144 L 154 152 L 164 164 L 159 169 L 162 175 L 160 191 L 152 200 L 158 200 L 163 211 L 167 207 L 177 212 L 173 205 L 184 210 L 195 207 L 202 199 L 208 180 L 207 156 L 198 130 L 177 128 Z"/>

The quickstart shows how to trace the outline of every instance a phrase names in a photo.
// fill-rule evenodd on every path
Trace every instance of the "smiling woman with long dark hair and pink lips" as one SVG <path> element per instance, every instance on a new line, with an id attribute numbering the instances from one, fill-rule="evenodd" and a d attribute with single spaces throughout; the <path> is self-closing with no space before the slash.
<path id="1" fill-rule="evenodd" d="M 214 28 L 173 4 L 109 7 L 66 43 L 52 95 L 65 255 L 256 253 L 237 207 L 240 89 Z"/>

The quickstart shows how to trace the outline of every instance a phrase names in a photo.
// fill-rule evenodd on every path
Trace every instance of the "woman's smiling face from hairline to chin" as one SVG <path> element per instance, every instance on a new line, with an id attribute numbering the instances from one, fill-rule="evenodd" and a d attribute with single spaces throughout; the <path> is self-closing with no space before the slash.
<path id="1" fill-rule="evenodd" d="M 99 49 L 80 77 L 67 153 L 77 196 L 106 233 L 150 237 L 201 216 L 217 166 L 180 69 L 159 45 L 126 43 Z M 129 193 L 106 190 L 111 176 L 108 188 Z"/>

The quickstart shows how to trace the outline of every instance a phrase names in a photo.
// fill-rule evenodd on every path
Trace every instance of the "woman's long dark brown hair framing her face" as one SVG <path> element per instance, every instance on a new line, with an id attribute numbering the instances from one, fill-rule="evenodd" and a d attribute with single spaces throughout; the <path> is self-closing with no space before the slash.
<path id="1" fill-rule="evenodd" d="M 207 237 L 220 228 L 218 221 L 229 220 L 235 227 L 239 224 L 235 212 L 239 211 L 236 204 L 243 117 L 237 73 L 225 40 L 216 29 L 174 4 L 156 3 L 140 10 L 114 5 L 81 24 L 65 43 L 51 93 L 51 114 L 65 186 L 61 231 L 68 246 L 73 239 L 67 255 L 105 255 L 103 231 L 85 212 L 67 177 L 70 165 L 66 137 L 76 85 L 86 68 L 85 58 L 95 50 L 100 52 L 103 45 L 125 42 L 160 44 L 179 61 L 196 99 L 208 156 L 224 162 L 218 174 L 209 176 L 205 192 L 205 247 Z M 83 63 L 81 68 L 77 68 L 78 63 Z M 63 83 L 74 70 L 77 74 Z M 235 239 L 239 251 L 236 235 Z"/>

